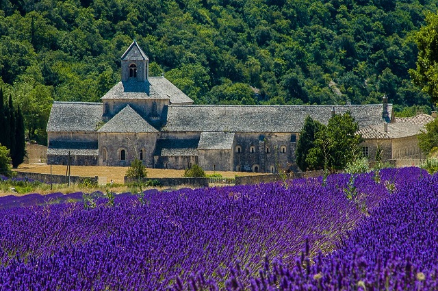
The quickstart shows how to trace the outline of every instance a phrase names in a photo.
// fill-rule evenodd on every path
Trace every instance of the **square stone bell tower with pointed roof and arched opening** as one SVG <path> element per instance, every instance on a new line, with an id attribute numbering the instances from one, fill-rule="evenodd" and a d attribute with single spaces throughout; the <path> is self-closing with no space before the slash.
<path id="1" fill-rule="evenodd" d="M 121 62 L 122 81 L 148 81 L 149 58 L 146 53 L 140 49 L 136 40 L 133 40 L 125 53 L 123 53 Z"/>

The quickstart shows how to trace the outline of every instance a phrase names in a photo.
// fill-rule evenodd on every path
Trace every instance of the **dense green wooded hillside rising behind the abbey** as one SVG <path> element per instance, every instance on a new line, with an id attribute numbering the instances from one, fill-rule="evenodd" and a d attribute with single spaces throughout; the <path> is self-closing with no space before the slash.
<path id="1" fill-rule="evenodd" d="M 432 0 L 1 0 L 0 86 L 44 142 L 50 105 L 99 101 L 136 38 L 196 103 L 430 106 L 411 83 Z M 258 94 L 254 94 L 257 92 Z M 396 107 L 397 108 L 397 107 Z"/>

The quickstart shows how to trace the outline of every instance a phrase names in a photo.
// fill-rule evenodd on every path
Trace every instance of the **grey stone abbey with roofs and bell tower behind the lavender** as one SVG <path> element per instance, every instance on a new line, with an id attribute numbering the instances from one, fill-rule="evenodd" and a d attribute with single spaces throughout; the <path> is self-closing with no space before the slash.
<path id="1" fill-rule="evenodd" d="M 361 128 L 394 120 L 386 99 L 376 105 L 192 105 L 166 78 L 149 76 L 149 58 L 136 41 L 121 67 L 121 81 L 102 103 L 53 103 L 49 164 L 66 164 L 70 152 L 79 165 L 129 166 L 137 158 L 150 168 L 290 172 L 297 170 L 296 141 L 306 116 L 326 124 L 333 113 L 349 111 Z"/>

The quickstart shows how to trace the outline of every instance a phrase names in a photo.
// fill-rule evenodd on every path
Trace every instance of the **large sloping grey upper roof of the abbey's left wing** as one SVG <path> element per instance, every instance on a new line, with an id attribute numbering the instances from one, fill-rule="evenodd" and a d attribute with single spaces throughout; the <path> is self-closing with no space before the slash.
<path id="1" fill-rule="evenodd" d="M 47 131 L 96 131 L 102 103 L 53 102 Z"/>

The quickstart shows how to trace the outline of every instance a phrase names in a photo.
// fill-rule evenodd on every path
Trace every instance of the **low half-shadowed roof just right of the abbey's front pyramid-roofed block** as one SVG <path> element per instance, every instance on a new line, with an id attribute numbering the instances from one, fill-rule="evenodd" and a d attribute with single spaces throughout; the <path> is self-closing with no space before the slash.
<path id="1" fill-rule="evenodd" d="M 179 140 L 179 139 L 167 139 L 157 140 L 154 155 L 161 155 L 164 157 L 176 157 L 176 156 L 194 156 L 198 155 L 199 140 Z"/>

